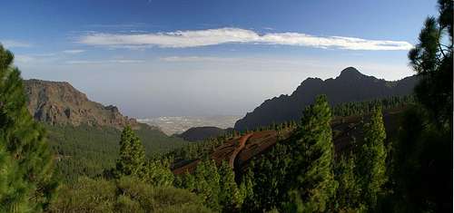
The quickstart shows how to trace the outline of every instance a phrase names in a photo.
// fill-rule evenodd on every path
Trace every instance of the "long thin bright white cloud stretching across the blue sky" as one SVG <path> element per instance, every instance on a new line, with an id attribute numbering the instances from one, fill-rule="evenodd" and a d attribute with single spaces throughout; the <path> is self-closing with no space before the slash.
<path id="1" fill-rule="evenodd" d="M 345 50 L 409 50 L 405 41 L 367 40 L 343 36 L 316 36 L 300 33 L 258 34 L 241 28 L 218 28 L 153 34 L 87 34 L 79 43 L 110 47 L 185 48 L 217 44 L 279 44 Z"/>

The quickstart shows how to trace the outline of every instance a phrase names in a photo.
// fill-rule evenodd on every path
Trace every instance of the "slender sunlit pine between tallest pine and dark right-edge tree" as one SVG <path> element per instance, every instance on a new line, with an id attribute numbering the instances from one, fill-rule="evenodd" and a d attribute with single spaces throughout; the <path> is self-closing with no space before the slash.
<path id="1" fill-rule="evenodd" d="M 381 187 L 387 181 L 385 139 L 381 109 L 377 107 L 371 115 L 370 123 L 364 127 L 364 144 L 360 148 L 358 162 L 362 196 L 371 209 L 377 205 Z"/>

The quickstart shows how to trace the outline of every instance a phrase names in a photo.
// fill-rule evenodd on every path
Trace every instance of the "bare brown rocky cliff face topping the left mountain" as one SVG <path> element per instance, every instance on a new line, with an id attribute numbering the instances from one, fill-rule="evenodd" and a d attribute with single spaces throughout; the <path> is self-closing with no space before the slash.
<path id="1" fill-rule="evenodd" d="M 88 100 L 68 82 L 25 80 L 29 98 L 28 110 L 36 121 L 50 124 L 88 124 L 122 129 L 129 124 L 138 127 L 137 121 L 125 117 L 115 106 L 104 106 Z"/>

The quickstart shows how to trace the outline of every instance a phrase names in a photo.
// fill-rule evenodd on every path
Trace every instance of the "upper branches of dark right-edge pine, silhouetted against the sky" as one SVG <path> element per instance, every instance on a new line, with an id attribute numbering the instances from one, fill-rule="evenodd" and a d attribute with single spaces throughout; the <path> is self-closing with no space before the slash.
<path id="1" fill-rule="evenodd" d="M 409 53 L 410 64 L 422 78 L 415 88 L 418 101 L 439 125 L 451 129 L 453 8 L 452 1 L 439 0 L 439 19 L 426 19 L 419 34 L 419 44 Z"/>

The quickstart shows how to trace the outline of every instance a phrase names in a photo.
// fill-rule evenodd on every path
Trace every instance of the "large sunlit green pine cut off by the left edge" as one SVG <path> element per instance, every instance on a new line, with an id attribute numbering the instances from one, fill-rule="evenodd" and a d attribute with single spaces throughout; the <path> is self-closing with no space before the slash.
<path id="1" fill-rule="evenodd" d="M 26 108 L 23 80 L 13 59 L 0 45 L 0 209 L 35 212 L 47 208 L 54 197 L 54 161 L 44 129 Z"/>

